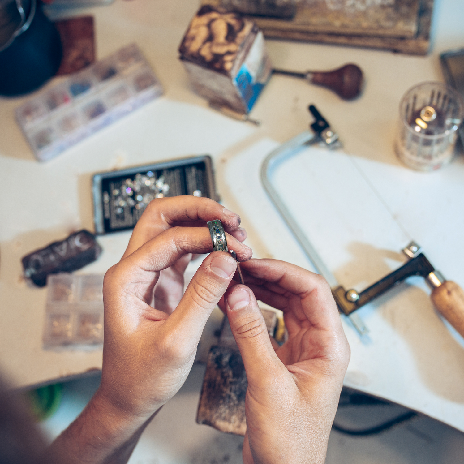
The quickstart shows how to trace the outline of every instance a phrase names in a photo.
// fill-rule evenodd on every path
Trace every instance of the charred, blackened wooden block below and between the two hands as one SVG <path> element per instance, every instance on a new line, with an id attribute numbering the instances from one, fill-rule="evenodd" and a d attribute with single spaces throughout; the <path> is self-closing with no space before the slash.
<path id="1" fill-rule="evenodd" d="M 240 352 L 228 347 L 212 347 L 208 354 L 201 388 L 197 423 L 245 435 L 246 374 Z"/>

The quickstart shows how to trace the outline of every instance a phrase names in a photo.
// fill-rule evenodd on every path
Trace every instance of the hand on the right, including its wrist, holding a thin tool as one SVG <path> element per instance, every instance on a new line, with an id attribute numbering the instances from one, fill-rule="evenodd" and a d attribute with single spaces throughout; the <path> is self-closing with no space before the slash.
<path id="1" fill-rule="evenodd" d="M 326 280 L 293 264 L 252 259 L 225 295 L 245 365 L 244 464 L 323 464 L 350 348 Z M 257 298 L 284 311 L 289 338 L 271 344 Z"/>

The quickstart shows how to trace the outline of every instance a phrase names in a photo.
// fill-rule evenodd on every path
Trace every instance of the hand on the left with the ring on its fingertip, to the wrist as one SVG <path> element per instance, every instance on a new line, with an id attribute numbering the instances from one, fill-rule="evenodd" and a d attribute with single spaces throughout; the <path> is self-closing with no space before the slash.
<path id="1" fill-rule="evenodd" d="M 251 258 L 251 249 L 239 241 L 246 233 L 237 214 L 205 198 L 164 198 L 149 204 L 121 261 L 105 275 L 99 394 L 141 421 L 184 383 L 206 320 L 236 270 L 228 253 L 213 252 L 182 296 L 191 253 L 213 250 L 206 227 L 213 219 L 221 219 L 238 259 Z"/>

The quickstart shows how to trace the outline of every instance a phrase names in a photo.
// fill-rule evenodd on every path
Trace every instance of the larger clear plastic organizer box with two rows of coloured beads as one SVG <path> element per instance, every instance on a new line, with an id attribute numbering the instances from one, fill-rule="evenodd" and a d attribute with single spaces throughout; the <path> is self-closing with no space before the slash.
<path id="1" fill-rule="evenodd" d="M 46 161 L 162 92 L 147 60 L 132 44 L 72 74 L 15 113 L 35 156 Z"/>

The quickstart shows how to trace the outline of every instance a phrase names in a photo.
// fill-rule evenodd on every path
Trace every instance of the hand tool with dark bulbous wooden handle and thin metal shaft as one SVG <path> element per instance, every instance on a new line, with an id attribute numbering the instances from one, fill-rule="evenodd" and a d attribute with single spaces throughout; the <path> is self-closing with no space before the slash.
<path id="1" fill-rule="evenodd" d="M 274 74 L 284 74 L 286 76 L 302 77 L 311 84 L 322 85 L 333 90 L 344 100 L 352 100 L 361 94 L 362 90 L 362 71 L 356 64 L 345 64 L 334 71 L 305 71 L 295 72 L 284 69 L 273 69 Z"/>

